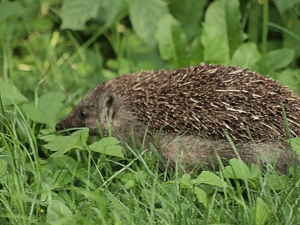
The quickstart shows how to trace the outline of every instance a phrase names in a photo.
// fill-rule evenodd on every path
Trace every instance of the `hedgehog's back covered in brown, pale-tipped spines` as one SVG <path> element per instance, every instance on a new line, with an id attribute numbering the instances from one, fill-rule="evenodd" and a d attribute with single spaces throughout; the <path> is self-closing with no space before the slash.
<path id="1" fill-rule="evenodd" d="M 144 71 L 108 82 L 125 96 L 136 117 L 165 132 L 217 140 L 226 129 L 234 140 L 257 142 L 285 135 L 281 103 L 291 134 L 300 135 L 300 98 L 277 81 L 249 70 L 200 64 L 157 73 Z"/>

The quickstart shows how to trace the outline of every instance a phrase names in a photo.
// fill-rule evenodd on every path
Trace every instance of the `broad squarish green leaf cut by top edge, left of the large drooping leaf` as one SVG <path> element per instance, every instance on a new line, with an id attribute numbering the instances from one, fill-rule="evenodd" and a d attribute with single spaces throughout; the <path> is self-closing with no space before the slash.
<path id="1" fill-rule="evenodd" d="M 97 16 L 100 4 L 99 0 L 63 0 L 61 29 L 84 30 L 85 23 Z"/>

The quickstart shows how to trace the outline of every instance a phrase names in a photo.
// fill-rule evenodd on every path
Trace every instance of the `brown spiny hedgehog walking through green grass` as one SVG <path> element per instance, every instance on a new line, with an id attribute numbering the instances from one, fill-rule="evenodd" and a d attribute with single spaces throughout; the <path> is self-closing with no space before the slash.
<path id="1" fill-rule="evenodd" d="M 249 69 L 201 63 L 103 82 L 56 130 L 88 127 L 97 136 L 99 123 L 104 135 L 111 129 L 129 146 L 133 136 L 171 167 L 178 160 L 188 172 L 219 168 L 220 161 L 227 165 L 238 157 L 247 164 L 273 162 L 286 173 L 295 157 L 298 163 L 286 140 L 299 136 L 299 119 L 300 97 L 278 81 Z"/>

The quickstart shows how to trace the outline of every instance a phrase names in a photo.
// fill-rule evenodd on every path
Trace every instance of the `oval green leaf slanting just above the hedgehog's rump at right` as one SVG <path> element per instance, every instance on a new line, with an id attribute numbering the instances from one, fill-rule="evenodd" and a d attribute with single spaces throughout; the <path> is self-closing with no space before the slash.
<path id="1" fill-rule="evenodd" d="M 262 56 L 262 58 L 253 66 L 253 69 L 262 74 L 270 74 L 273 71 L 289 65 L 292 62 L 294 55 L 295 51 L 287 48 L 270 51 Z"/>

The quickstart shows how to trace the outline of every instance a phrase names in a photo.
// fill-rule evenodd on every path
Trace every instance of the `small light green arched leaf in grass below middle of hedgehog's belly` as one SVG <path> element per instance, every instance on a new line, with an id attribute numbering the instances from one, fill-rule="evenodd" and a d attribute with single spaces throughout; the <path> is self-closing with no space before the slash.
<path id="1" fill-rule="evenodd" d="M 222 180 L 216 174 L 209 171 L 203 171 L 196 179 L 191 180 L 191 184 L 209 184 L 218 187 L 228 187 L 227 183 L 224 180 Z"/>

